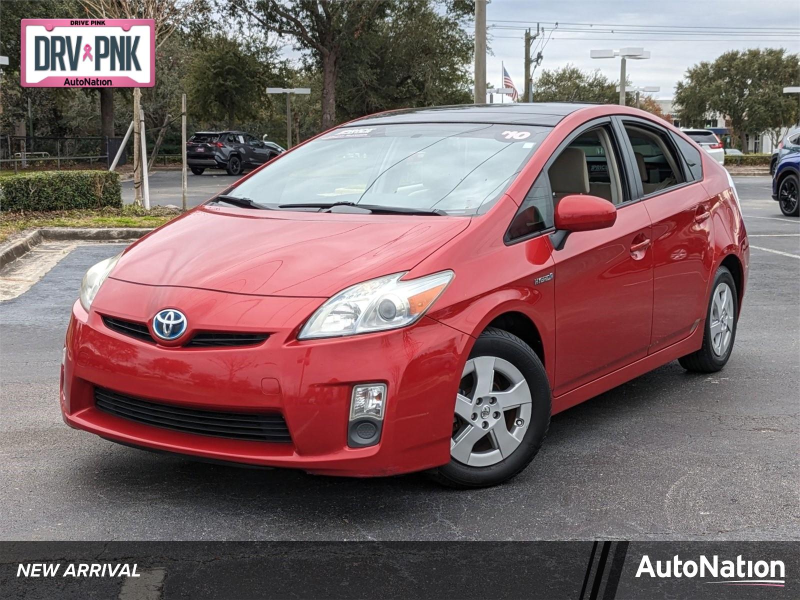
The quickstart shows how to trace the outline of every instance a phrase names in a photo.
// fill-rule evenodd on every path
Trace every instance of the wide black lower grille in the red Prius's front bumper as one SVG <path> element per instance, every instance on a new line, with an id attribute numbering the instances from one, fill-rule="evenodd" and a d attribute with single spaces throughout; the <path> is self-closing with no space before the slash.
<path id="1" fill-rule="evenodd" d="M 187 434 L 255 442 L 291 442 L 286 421 L 275 413 L 233 413 L 160 404 L 94 388 L 94 406 L 120 418 Z"/>

